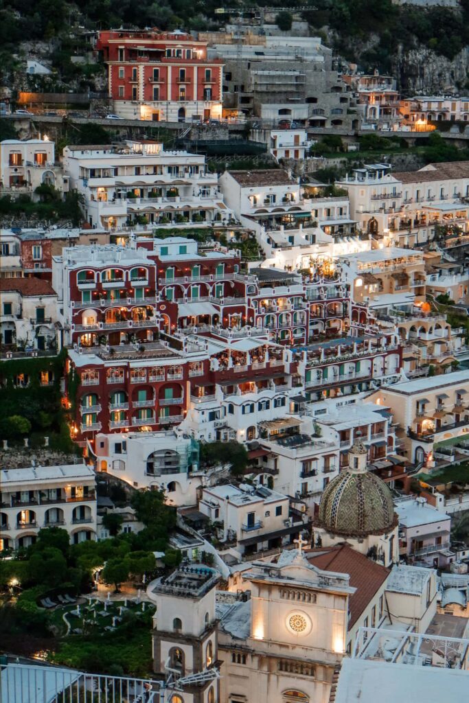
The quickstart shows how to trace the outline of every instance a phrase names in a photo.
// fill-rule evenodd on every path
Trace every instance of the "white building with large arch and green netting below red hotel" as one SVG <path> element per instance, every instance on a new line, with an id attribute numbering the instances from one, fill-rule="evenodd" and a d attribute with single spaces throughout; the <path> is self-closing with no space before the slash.
<path id="1" fill-rule="evenodd" d="M 126 432 L 96 436 L 98 471 L 134 488 L 166 491 L 172 505 L 195 505 L 203 484 L 198 444 L 181 432 Z"/>

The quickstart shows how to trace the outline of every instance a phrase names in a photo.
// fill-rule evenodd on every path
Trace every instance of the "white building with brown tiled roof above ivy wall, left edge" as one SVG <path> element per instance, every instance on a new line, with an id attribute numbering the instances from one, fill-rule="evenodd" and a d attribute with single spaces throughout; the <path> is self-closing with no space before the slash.
<path id="1" fill-rule="evenodd" d="M 57 293 L 41 278 L 0 278 L 0 343 L 14 348 L 60 349 Z"/>

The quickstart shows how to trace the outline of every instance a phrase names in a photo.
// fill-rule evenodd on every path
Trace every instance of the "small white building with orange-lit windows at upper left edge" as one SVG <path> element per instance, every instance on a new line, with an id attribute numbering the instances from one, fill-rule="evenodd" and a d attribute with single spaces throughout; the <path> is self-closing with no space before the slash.
<path id="1" fill-rule="evenodd" d="M 0 191 L 9 195 L 27 193 L 48 185 L 68 192 L 68 177 L 56 164 L 55 145 L 48 139 L 6 139 L 0 142 Z"/>

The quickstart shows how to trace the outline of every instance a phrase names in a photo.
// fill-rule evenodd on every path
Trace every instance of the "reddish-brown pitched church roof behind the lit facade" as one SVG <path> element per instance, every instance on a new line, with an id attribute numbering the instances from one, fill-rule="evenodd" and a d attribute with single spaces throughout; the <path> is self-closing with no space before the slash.
<path id="1" fill-rule="evenodd" d="M 308 561 L 325 571 L 349 574 L 350 586 L 356 588 L 349 600 L 349 630 L 390 575 L 390 569 L 375 564 L 363 554 L 345 545 L 313 549 L 308 553 Z"/>

